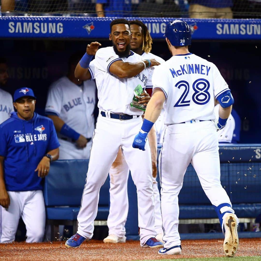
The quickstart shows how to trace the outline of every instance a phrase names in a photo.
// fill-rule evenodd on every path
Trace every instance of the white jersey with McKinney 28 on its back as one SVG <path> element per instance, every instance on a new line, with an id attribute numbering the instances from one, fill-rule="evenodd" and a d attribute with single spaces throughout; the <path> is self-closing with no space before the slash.
<path id="1" fill-rule="evenodd" d="M 214 120 L 214 98 L 229 90 L 215 64 L 191 53 L 157 66 L 152 83 L 166 96 L 165 124 Z"/>

